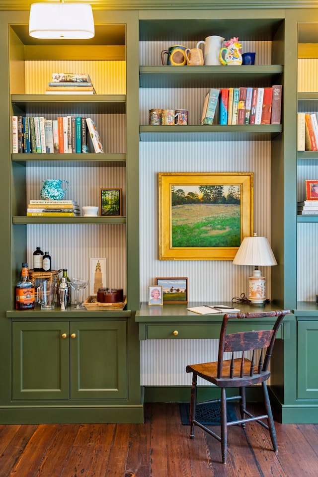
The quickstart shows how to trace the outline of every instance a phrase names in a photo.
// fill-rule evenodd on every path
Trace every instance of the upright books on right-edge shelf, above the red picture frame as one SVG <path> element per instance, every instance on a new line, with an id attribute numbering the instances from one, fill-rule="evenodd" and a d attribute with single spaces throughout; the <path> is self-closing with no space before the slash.
<path id="1" fill-rule="evenodd" d="M 318 151 L 318 122 L 315 113 L 297 113 L 297 151 Z"/>

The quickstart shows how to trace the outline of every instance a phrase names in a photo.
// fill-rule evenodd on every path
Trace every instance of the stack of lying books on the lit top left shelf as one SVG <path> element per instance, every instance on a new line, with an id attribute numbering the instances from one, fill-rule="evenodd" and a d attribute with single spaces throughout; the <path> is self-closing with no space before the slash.
<path id="1" fill-rule="evenodd" d="M 45 94 L 96 94 L 87 73 L 52 73 Z"/>

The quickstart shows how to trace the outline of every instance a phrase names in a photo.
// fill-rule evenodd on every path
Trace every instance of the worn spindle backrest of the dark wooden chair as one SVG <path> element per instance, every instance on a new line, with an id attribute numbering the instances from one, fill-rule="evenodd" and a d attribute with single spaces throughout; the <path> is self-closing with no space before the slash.
<path id="1" fill-rule="evenodd" d="M 231 365 L 230 367 L 230 376 L 228 376 L 229 378 L 234 377 L 233 375 L 234 353 L 236 351 L 241 352 L 240 377 L 243 377 L 245 351 L 252 351 L 250 376 L 253 376 L 254 374 L 256 350 L 261 350 L 260 356 L 258 359 L 257 373 L 259 374 L 262 371 L 267 371 L 278 328 L 283 318 L 285 317 L 285 315 L 288 315 L 289 313 L 290 313 L 290 310 L 277 310 L 272 312 L 261 312 L 261 313 L 227 313 L 226 315 L 224 315 L 222 326 L 221 326 L 221 332 L 220 332 L 218 378 L 222 377 L 224 353 L 227 351 L 232 352 L 232 363 L 233 363 L 233 365 Z M 258 331 L 241 331 L 238 333 L 229 333 L 229 334 L 227 334 L 226 332 L 229 319 L 231 318 L 265 318 L 265 317 L 267 318 L 277 317 L 272 329 L 258 330 Z M 264 352 L 265 352 L 265 357 L 263 356 Z"/>

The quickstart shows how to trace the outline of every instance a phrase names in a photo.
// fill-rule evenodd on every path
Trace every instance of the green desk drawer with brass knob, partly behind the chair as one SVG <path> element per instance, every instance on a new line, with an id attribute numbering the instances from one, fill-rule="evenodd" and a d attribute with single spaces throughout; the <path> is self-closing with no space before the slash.
<path id="1" fill-rule="evenodd" d="M 220 337 L 220 323 L 209 324 L 148 324 L 146 339 L 211 339 Z M 251 323 L 233 323 L 228 325 L 229 333 L 239 331 L 249 331 L 250 329 L 272 329 L 271 324 L 254 324 Z M 278 330 L 277 338 L 282 337 L 281 327 Z"/>

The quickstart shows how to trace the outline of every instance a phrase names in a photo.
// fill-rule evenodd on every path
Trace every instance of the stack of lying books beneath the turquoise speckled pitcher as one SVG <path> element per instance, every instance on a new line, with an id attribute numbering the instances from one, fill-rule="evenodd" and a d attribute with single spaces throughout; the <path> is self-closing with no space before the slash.
<path id="1" fill-rule="evenodd" d="M 27 217 L 79 217 L 79 206 L 74 200 L 30 200 Z"/>

